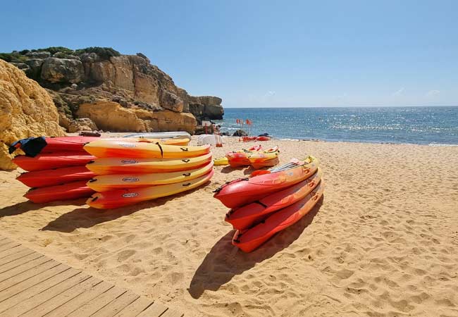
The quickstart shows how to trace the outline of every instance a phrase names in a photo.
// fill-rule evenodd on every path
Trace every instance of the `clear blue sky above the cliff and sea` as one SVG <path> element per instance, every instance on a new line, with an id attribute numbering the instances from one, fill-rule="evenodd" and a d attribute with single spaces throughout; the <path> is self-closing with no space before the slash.
<path id="1" fill-rule="evenodd" d="M 0 51 L 142 52 L 226 107 L 458 105 L 458 1 L 7 1 Z"/>

